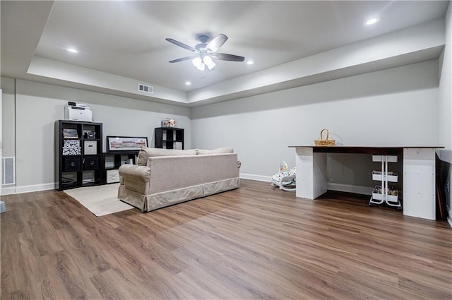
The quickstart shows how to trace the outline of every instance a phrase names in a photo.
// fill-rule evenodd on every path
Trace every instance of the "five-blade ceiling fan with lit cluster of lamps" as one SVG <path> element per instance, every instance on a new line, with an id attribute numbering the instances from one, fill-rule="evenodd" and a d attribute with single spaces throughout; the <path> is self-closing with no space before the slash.
<path id="1" fill-rule="evenodd" d="M 212 40 L 210 40 L 210 42 L 208 42 L 208 35 L 198 35 L 198 40 L 201 43 L 197 44 L 195 47 L 191 47 L 187 44 L 170 38 L 167 38 L 165 40 L 194 53 L 193 56 L 173 59 L 172 61 L 169 61 L 170 63 L 177 63 L 179 61 L 186 61 L 191 59 L 194 66 L 196 66 L 199 71 L 204 71 L 206 66 L 209 71 L 212 71 L 213 68 L 215 68 L 215 62 L 213 61 L 213 59 L 219 59 L 221 61 L 244 61 L 245 59 L 243 56 L 217 52 L 222 44 L 225 44 L 227 40 L 227 36 L 223 35 L 222 33 L 214 37 Z"/>

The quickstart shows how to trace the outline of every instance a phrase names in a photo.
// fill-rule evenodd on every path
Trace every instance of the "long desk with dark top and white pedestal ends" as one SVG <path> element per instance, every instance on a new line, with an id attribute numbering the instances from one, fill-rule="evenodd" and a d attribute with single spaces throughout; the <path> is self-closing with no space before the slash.
<path id="1" fill-rule="evenodd" d="M 289 146 L 295 148 L 298 198 L 315 199 L 327 191 L 327 153 L 398 155 L 403 161 L 403 215 L 435 220 L 435 150 L 444 147 Z"/>

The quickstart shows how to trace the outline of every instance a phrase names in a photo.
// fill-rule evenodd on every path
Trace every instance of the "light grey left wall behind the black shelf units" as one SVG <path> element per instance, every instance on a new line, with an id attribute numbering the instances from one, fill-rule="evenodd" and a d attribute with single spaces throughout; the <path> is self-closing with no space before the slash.
<path id="1" fill-rule="evenodd" d="M 115 97 L 56 85 L 16 80 L 16 192 L 54 188 L 54 121 L 64 119 L 68 101 L 89 104 L 105 136 L 147 136 L 171 116 L 186 128 L 190 148 L 190 109 Z M 104 147 L 105 150 L 105 147 Z"/>

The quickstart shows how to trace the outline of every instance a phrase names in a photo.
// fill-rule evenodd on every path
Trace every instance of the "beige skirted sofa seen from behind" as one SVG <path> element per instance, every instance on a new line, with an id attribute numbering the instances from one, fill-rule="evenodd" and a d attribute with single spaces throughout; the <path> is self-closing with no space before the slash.
<path id="1" fill-rule="evenodd" d="M 143 212 L 239 188 L 240 162 L 232 148 L 143 148 L 137 164 L 119 168 L 119 200 Z"/>

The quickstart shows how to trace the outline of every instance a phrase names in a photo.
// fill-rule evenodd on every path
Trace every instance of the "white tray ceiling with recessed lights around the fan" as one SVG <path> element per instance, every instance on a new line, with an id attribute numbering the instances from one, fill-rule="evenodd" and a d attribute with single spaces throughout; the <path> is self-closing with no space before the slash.
<path id="1" fill-rule="evenodd" d="M 79 66 L 83 68 L 78 70 L 85 70 L 85 74 L 97 71 L 97 75 L 128 78 L 174 91 L 174 95 L 184 98 L 190 93 L 218 88 L 234 78 L 246 80 L 258 71 L 260 74 L 268 71 L 270 75 L 273 68 L 282 64 L 444 18 L 448 3 L 1 1 L 1 76 L 88 90 L 102 88 L 95 82 L 63 76 L 64 66 Z M 364 20 L 370 16 L 378 16 L 380 22 L 366 27 Z M 214 71 L 203 72 L 196 70 L 191 61 L 169 64 L 169 60 L 190 56 L 191 52 L 165 38 L 194 46 L 198 43 L 197 35 L 215 37 L 220 33 L 229 37 L 220 52 L 245 56 L 255 64 L 216 61 Z M 66 52 L 67 47 L 75 47 L 80 53 Z M 438 51 L 431 53 L 423 59 L 439 55 Z M 42 58 L 47 65 L 64 63 L 59 64 L 61 77 L 45 75 L 43 70 L 30 71 L 37 70 L 37 63 L 29 70 L 34 60 Z M 185 85 L 186 80 L 192 84 Z M 114 88 L 103 88 L 112 94 L 133 97 L 124 90 L 121 93 L 120 89 L 115 92 Z M 137 97 L 146 100 L 143 95 Z M 163 98 L 172 100 L 171 96 Z"/>

